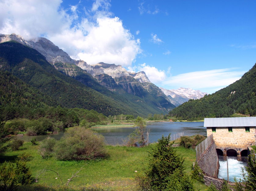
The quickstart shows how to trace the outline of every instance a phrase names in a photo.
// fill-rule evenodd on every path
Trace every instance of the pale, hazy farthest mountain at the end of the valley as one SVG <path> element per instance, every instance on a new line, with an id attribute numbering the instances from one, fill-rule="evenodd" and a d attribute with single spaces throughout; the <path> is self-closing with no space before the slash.
<path id="1" fill-rule="evenodd" d="M 207 93 L 201 92 L 200 90 L 193 90 L 191 88 L 184 87 L 180 87 L 177 90 L 166 90 L 163 87 L 160 87 L 160 89 L 168 97 L 169 101 L 176 107 L 186 101 L 189 101 L 190 99 L 196 100 L 204 97 L 204 95 L 207 95 Z"/>

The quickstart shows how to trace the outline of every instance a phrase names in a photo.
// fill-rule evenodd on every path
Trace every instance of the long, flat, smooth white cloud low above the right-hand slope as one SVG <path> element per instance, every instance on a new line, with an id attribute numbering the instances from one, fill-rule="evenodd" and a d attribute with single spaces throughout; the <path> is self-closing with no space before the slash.
<path id="1" fill-rule="evenodd" d="M 226 68 L 183 73 L 168 77 L 162 84 L 175 88 L 190 87 L 193 89 L 211 88 L 212 90 L 219 90 L 239 80 L 245 73 L 244 71 L 232 71 L 233 69 Z"/>

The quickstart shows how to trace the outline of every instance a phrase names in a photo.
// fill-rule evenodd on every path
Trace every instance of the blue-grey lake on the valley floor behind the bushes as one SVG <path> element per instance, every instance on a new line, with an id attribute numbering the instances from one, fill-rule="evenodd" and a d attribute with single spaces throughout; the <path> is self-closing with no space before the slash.
<path id="1" fill-rule="evenodd" d="M 168 136 L 169 133 L 174 135 L 176 133 L 184 132 L 184 135 L 205 135 L 206 128 L 204 128 L 204 122 L 158 122 L 147 123 L 146 128 L 150 129 L 149 141 L 157 142 L 159 138 Z M 105 142 L 108 145 L 122 145 L 123 140 L 135 130 L 135 128 L 92 128 L 92 130 L 98 132 L 105 137 Z M 19 137 L 24 141 L 30 141 L 32 138 L 36 138 L 37 141 L 41 141 L 46 137 L 53 137 L 59 140 L 63 136 L 63 131 L 55 135 L 38 135 L 38 136 L 23 136 Z"/>

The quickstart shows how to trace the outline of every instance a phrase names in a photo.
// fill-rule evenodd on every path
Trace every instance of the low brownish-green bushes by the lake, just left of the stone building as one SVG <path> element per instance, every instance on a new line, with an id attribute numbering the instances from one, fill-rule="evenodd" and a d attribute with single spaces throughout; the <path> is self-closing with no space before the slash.
<path id="1" fill-rule="evenodd" d="M 202 142 L 206 137 L 203 135 L 195 135 L 195 136 L 181 136 L 180 137 L 180 145 L 183 145 L 185 148 L 196 148 L 196 146 Z"/>

